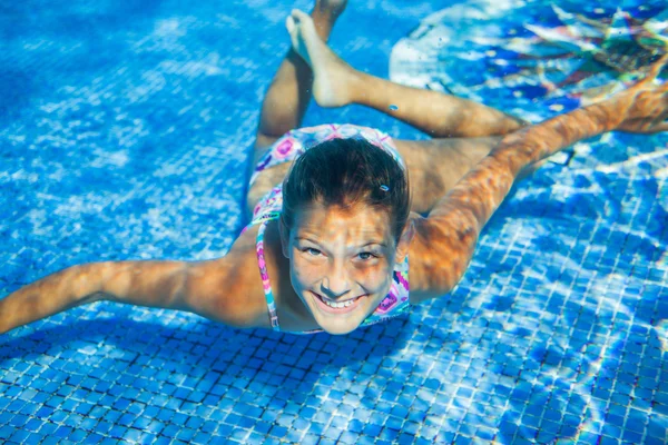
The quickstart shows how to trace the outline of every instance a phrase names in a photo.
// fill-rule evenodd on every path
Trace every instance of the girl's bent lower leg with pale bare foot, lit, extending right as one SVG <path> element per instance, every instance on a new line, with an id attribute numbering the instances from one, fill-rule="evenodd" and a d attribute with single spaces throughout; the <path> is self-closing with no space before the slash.
<path id="1" fill-rule="evenodd" d="M 293 48 L 313 69 L 313 95 L 322 107 L 369 106 L 439 138 L 505 135 L 524 125 L 481 103 L 405 87 L 353 69 L 318 38 L 313 20 L 301 11 L 293 11 L 288 31 Z"/>

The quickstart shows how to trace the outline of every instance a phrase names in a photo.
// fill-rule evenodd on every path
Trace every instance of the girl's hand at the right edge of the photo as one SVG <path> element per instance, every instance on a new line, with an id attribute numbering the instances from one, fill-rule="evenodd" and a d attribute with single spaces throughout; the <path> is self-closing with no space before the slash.
<path id="1" fill-rule="evenodd" d="M 622 117 L 617 130 L 642 135 L 668 130 L 668 81 L 654 83 L 667 63 L 665 55 L 649 67 L 642 80 L 610 98 Z"/>

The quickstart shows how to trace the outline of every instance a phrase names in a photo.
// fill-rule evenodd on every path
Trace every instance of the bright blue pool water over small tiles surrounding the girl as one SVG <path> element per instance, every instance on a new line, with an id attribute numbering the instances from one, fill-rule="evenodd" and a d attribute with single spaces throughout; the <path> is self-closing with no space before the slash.
<path id="1" fill-rule="evenodd" d="M 294 6 L 4 4 L 0 295 L 78 263 L 224 255 Z M 355 1 L 332 47 L 387 77 L 450 6 Z M 326 121 L 424 138 L 361 107 L 304 123 Z M 456 290 L 347 336 L 110 303 L 2 335 L 0 442 L 666 443 L 667 146 L 576 146 L 500 208 Z"/>

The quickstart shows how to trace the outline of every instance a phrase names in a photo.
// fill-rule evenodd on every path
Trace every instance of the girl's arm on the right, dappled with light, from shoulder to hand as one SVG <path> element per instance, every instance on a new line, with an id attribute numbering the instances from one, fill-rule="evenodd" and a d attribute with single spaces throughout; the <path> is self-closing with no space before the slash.
<path id="1" fill-rule="evenodd" d="M 410 253 L 416 259 L 411 264 L 411 301 L 439 297 L 459 283 L 480 231 L 522 169 L 606 131 L 668 130 L 668 82 L 654 85 L 667 61 L 665 56 L 644 80 L 608 100 L 505 136 L 434 206 L 428 218 L 415 218 Z"/>

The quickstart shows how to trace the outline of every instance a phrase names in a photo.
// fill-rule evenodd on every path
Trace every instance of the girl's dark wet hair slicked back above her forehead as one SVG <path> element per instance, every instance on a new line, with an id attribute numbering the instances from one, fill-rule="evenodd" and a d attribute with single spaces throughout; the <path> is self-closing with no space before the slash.
<path id="1" fill-rule="evenodd" d="M 409 177 L 385 150 L 361 138 L 332 139 L 306 150 L 283 182 L 285 226 L 302 206 L 350 208 L 357 204 L 387 211 L 395 241 L 411 211 Z"/>

